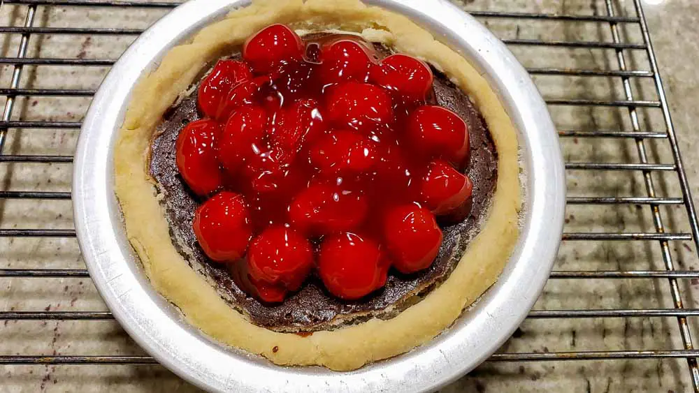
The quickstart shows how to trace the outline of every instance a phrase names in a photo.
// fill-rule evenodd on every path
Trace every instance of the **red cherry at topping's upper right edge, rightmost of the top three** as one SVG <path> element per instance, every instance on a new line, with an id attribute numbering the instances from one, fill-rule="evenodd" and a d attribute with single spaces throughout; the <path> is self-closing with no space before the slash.
<path id="1" fill-rule="evenodd" d="M 433 75 L 424 62 L 406 54 L 391 54 L 373 68 L 371 80 L 381 86 L 408 96 L 424 100 L 432 87 Z"/>

